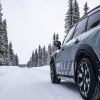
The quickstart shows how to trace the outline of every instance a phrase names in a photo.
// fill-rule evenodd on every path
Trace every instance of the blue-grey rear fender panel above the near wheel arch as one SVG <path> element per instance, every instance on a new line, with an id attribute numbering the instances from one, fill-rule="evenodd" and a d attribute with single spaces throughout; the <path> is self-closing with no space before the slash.
<path id="1" fill-rule="evenodd" d="M 95 27 L 81 35 L 80 44 L 88 44 L 91 46 L 100 59 L 100 26 Z"/>

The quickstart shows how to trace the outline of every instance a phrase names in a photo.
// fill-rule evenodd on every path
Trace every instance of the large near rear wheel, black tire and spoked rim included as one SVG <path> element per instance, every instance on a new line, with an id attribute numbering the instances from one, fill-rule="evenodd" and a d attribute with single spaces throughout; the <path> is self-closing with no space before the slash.
<path id="1" fill-rule="evenodd" d="M 78 63 L 77 84 L 81 96 L 85 100 L 91 100 L 95 93 L 96 77 L 93 65 L 88 58 L 82 58 Z"/>

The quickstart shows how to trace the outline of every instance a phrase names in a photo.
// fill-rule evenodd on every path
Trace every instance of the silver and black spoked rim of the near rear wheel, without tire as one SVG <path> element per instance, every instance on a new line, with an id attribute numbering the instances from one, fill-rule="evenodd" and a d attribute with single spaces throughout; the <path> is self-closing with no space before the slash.
<path id="1" fill-rule="evenodd" d="M 81 62 L 78 70 L 78 85 L 82 95 L 87 97 L 90 87 L 90 73 L 88 64 L 86 62 Z"/>

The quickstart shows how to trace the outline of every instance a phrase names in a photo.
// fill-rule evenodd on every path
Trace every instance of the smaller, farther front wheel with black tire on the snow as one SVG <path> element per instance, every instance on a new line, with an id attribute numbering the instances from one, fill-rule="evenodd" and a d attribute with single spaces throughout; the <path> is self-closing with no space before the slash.
<path id="1" fill-rule="evenodd" d="M 55 64 L 54 62 L 52 62 L 50 64 L 50 76 L 51 76 L 51 82 L 52 83 L 60 83 L 61 79 L 58 78 L 57 74 L 56 74 L 56 69 L 55 69 Z"/>

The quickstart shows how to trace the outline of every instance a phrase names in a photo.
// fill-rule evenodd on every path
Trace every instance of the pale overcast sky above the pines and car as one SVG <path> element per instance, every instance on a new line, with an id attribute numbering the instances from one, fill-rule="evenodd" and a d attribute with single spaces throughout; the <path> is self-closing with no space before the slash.
<path id="1" fill-rule="evenodd" d="M 100 0 L 78 0 L 81 16 L 86 1 L 90 9 L 100 5 Z M 47 47 L 52 42 L 54 32 L 59 33 L 60 39 L 63 39 L 67 2 L 68 0 L 2 0 L 8 38 L 20 63 L 27 63 L 39 44 Z"/>

